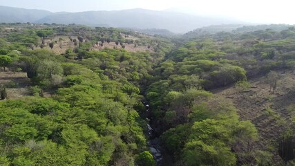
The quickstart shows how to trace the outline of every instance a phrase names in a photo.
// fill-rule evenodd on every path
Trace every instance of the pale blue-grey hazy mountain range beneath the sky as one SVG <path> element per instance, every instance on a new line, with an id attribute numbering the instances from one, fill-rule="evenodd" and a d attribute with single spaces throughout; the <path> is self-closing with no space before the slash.
<path id="1" fill-rule="evenodd" d="M 0 6 L 0 22 L 38 24 L 84 24 L 120 28 L 158 28 L 173 33 L 217 24 L 242 24 L 242 21 L 213 17 L 198 17 L 171 11 L 144 10 L 140 8 L 116 11 L 49 12 Z"/>

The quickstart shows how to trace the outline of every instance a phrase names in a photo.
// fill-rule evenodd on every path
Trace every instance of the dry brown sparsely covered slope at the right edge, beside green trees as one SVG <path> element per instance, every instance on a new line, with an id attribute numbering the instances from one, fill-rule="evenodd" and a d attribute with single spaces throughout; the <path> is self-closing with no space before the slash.
<path id="1" fill-rule="evenodd" d="M 238 91 L 234 86 L 216 91 L 217 95 L 234 102 L 241 120 L 251 120 L 258 129 L 259 138 L 254 149 L 272 151 L 274 160 L 278 156 L 278 140 L 288 128 L 294 128 L 295 74 L 280 73 L 274 93 L 269 91 L 265 77 L 251 80 L 251 88 Z"/>

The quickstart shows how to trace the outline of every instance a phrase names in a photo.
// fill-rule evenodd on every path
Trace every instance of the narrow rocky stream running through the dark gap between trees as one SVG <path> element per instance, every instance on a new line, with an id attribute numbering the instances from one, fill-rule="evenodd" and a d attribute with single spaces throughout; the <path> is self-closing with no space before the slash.
<path id="1" fill-rule="evenodd" d="M 160 147 L 160 139 L 158 138 L 158 134 L 155 133 L 155 130 L 153 129 L 153 118 L 151 116 L 151 110 L 149 109 L 149 102 L 144 102 L 146 106 L 146 113 L 148 114 L 148 117 L 146 120 L 148 121 L 148 124 L 146 124 L 147 134 L 149 136 L 149 140 L 147 142 L 147 145 L 149 147 L 149 151 L 153 155 L 153 159 L 155 160 L 156 165 L 162 166 L 163 165 L 163 157 L 162 157 L 162 147 Z"/>

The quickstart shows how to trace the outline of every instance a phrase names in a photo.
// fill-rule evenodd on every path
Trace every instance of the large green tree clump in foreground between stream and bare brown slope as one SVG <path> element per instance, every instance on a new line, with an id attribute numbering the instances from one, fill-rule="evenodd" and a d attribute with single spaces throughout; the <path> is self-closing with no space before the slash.
<path id="1" fill-rule="evenodd" d="M 169 94 L 171 100 L 177 101 L 172 96 L 181 93 Z M 204 98 L 206 95 L 200 96 Z M 190 123 L 180 124 L 163 133 L 166 148 L 173 151 L 184 165 L 236 165 L 236 155 L 242 156 L 238 149 L 249 146 L 247 142 L 256 140 L 258 136 L 254 124 L 239 121 L 236 109 L 226 100 L 200 100 L 199 97 L 198 101 L 203 102 L 193 102 Z M 237 148 L 236 153 L 231 150 L 233 148 Z"/>

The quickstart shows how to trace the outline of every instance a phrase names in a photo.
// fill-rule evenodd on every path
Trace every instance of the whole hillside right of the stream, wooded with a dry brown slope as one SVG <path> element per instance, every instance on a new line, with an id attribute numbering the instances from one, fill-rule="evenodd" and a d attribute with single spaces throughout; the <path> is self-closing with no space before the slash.
<path id="1" fill-rule="evenodd" d="M 294 84 L 292 77 L 280 82 L 281 75 L 293 74 L 294 32 L 289 28 L 200 35 L 155 67 L 157 79 L 146 98 L 158 120 L 155 126 L 160 133 L 164 131 L 164 147 L 177 165 L 280 165 L 279 154 L 285 161 L 294 158 L 292 150 L 283 149 L 292 146 L 292 141 L 284 141 L 294 136 L 290 104 Z M 262 95 L 251 90 L 260 89 L 260 85 L 247 82 L 260 77 L 261 88 L 267 89 Z M 235 83 L 235 92 L 227 95 L 212 96 L 204 91 L 222 91 L 216 88 Z M 281 109 L 282 103 L 279 106 L 276 99 L 284 95 L 289 99 L 285 98 Z M 232 100 L 242 118 L 238 118 Z M 243 111 L 248 107 L 251 112 Z"/>

